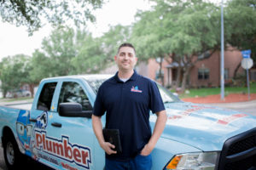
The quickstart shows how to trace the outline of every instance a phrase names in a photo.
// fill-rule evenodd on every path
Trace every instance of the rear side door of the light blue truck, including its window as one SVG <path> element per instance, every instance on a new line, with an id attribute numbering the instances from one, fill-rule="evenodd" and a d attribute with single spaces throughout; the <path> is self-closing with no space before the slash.
<path id="1" fill-rule="evenodd" d="M 32 138 L 30 148 L 32 158 L 40 161 L 49 167 L 59 167 L 59 162 L 52 155 L 52 141 L 55 139 L 55 133 L 51 132 L 50 117 L 55 115 L 53 108 L 53 99 L 57 82 L 41 82 L 42 86 L 38 88 L 39 95 L 36 95 L 32 105 L 30 122 L 32 123 Z"/>

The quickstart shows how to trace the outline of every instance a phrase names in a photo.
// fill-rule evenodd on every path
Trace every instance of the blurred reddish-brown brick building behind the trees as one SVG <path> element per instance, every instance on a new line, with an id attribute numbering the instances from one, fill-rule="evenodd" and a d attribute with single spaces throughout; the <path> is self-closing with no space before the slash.
<path id="1" fill-rule="evenodd" d="M 199 56 L 205 58 L 199 60 L 189 72 L 189 87 L 218 87 L 220 85 L 220 52 L 217 51 L 209 56 Z M 224 52 L 224 78 L 225 82 L 228 83 L 234 77 L 234 72 L 237 65 L 241 63 L 241 52 L 236 48 L 228 48 Z M 139 62 L 136 66 L 136 70 L 139 74 L 144 77 L 149 77 L 156 82 L 160 82 L 160 73 L 164 75 L 164 86 L 172 87 L 177 77 L 176 62 L 172 62 L 171 58 L 163 59 L 160 71 L 160 59 L 148 59 L 148 62 Z M 117 66 L 113 64 L 107 70 L 102 73 L 114 74 L 118 70 Z M 256 72 L 256 71 L 254 71 Z M 254 72 L 252 71 L 252 78 Z M 245 74 L 244 69 L 239 67 L 237 75 Z M 254 76 L 255 77 L 255 76 Z M 181 75 L 182 82 L 182 75 Z"/>

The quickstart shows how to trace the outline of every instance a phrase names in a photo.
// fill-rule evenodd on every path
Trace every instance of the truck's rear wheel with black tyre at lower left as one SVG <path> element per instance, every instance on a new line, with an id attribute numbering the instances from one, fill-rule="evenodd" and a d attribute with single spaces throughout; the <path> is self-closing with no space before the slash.
<path id="1" fill-rule="evenodd" d="M 19 169 L 24 157 L 18 148 L 18 144 L 12 137 L 4 139 L 3 143 L 4 161 L 8 169 Z"/>

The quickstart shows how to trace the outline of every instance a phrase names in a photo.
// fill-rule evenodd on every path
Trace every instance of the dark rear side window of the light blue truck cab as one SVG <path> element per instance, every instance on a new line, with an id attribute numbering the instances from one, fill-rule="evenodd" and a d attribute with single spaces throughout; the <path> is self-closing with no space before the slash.
<path id="1" fill-rule="evenodd" d="M 38 99 L 38 110 L 49 111 L 57 82 L 45 83 Z"/>

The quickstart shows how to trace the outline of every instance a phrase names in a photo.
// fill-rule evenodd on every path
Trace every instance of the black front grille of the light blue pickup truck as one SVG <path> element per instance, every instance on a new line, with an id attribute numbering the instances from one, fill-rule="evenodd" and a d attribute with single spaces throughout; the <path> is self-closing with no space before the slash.
<path id="1" fill-rule="evenodd" d="M 256 169 L 256 128 L 225 141 L 218 170 Z"/>

